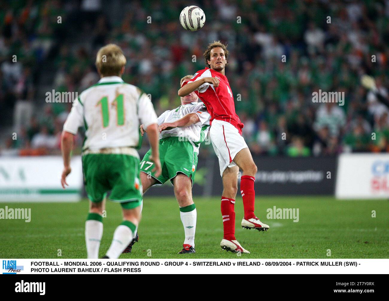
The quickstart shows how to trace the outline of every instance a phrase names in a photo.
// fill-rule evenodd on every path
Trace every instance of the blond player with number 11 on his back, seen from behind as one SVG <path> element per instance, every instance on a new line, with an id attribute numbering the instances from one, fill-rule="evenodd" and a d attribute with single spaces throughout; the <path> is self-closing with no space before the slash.
<path id="1" fill-rule="evenodd" d="M 126 58 L 120 47 L 109 44 L 96 56 L 100 81 L 80 94 L 63 126 L 62 155 L 64 169 L 62 187 L 68 185 L 70 151 L 74 135 L 85 126 L 82 146 L 82 171 L 90 209 L 85 223 L 88 258 L 98 258 L 103 235 L 103 200 L 121 204 L 123 222 L 116 228 L 112 244 L 103 258 L 118 258 L 131 242 L 140 221 L 142 186 L 139 176 L 139 155 L 135 148 L 141 143 L 140 124 L 147 128 L 154 172 L 161 174 L 158 150 L 157 116 L 149 97 L 139 88 L 123 82 Z"/>

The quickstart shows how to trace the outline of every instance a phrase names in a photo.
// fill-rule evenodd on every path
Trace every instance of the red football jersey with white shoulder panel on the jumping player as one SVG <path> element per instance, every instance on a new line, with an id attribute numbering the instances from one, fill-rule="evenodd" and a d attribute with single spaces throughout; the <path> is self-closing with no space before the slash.
<path id="1" fill-rule="evenodd" d="M 198 97 L 207 107 L 208 113 L 211 115 L 210 123 L 212 124 L 212 120 L 214 119 L 229 122 L 242 134 L 244 124 L 240 122 L 237 113 L 235 113 L 234 97 L 225 75 L 205 68 L 197 71 L 191 80 L 184 83 L 184 85 L 196 82 L 204 77 L 217 77 L 220 81 L 219 87 L 215 88 L 214 85 L 205 83 L 195 90 Z"/>

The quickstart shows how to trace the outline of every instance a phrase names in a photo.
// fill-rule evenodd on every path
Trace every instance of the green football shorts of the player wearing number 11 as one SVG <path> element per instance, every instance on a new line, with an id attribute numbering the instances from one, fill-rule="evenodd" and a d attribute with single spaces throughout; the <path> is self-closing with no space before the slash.
<path id="1" fill-rule="evenodd" d="M 85 190 L 89 200 L 98 203 L 108 191 L 109 199 L 133 209 L 142 201 L 139 159 L 121 154 L 87 154 L 82 156 Z"/>

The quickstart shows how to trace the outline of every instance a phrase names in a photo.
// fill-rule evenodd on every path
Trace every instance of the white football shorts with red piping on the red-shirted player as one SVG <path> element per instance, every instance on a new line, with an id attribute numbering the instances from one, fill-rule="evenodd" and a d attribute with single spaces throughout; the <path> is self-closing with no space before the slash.
<path id="1" fill-rule="evenodd" d="M 237 165 L 233 161 L 237 153 L 248 146 L 238 129 L 226 121 L 212 120 L 209 135 L 216 156 L 219 158 L 220 175 L 223 176 L 227 167 Z"/>

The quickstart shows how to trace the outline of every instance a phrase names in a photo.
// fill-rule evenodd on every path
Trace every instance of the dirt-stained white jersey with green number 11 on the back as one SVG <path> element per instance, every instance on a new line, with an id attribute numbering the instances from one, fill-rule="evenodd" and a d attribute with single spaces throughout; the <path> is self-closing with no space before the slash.
<path id="1" fill-rule="evenodd" d="M 82 150 L 100 150 L 137 147 L 139 125 L 147 128 L 156 123 L 157 115 L 149 97 L 120 77 L 111 76 L 103 77 L 80 94 L 63 129 L 77 134 L 84 125 L 86 140 Z"/>

